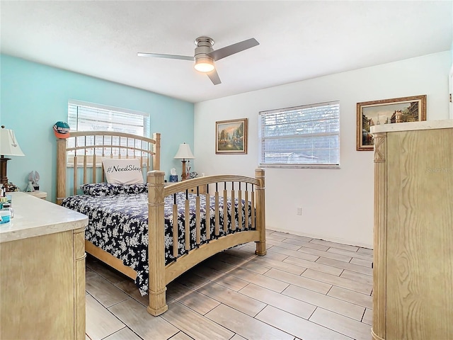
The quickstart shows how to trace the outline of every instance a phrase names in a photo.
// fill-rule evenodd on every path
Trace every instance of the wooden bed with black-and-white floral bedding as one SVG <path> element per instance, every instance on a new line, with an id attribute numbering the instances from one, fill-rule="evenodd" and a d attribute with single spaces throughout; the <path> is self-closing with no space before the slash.
<path id="1" fill-rule="evenodd" d="M 148 293 L 154 316 L 168 309 L 166 285 L 197 263 L 247 242 L 266 254 L 263 169 L 255 178 L 166 183 L 160 149 L 159 133 L 71 132 L 57 139 L 57 203 L 88 215 L 86 252 Z M 138 162 L 145 183 L 106 183 L 103 164 L 115 159 Z"/>

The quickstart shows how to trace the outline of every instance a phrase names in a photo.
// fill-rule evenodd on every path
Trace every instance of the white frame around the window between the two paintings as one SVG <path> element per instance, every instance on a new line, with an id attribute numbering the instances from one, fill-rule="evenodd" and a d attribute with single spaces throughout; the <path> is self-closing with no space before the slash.
<path id="1" fill-rule="evenodd" d="M 326 135 L 336 135 L 338 138 L 338 164 L 310 164 L 310 163 L 265 163 L 263 162 L 263 156 L 265 150 L 264 143 L 265 140 L 270 138 L 263 137 L 263 124 L 265 115 L 275 114 L 275 113 L 285 113 L 285 112 L 294 112 L 297 110 L 304 110 L 304 109 L 311 109 L 316 108 L 319 106 L 338 106 L 338 132 L 326 132 Z M 283 169 L 340 169 L 340 101 L 328 101 L 323 103 L 314 103 L 308 105 L 301 105 L 301 106 L 292 106 L 288 108 L 278 108 L 275 110 L 268 110 L 268 111 L 260 111 L 258 113 L 258 164 L 262 168 L 283 168 Z M 314 135 L 319 135 L 317 132 L 313 132 L 309 135 L 300 136 L 300 139 L 310 138 Z M 316 148 L 315 148 L 316 150 Z"/>

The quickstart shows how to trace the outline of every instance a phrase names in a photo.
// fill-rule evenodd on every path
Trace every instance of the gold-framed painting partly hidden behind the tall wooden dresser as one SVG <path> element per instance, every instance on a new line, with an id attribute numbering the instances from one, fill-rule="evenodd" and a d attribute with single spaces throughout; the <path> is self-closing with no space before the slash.
<path id="1" fill-rule="evenodd" d="M 426 120 L 426 95 L 357 103 L 357 151 L 374 149 L 369 127 Z"/>

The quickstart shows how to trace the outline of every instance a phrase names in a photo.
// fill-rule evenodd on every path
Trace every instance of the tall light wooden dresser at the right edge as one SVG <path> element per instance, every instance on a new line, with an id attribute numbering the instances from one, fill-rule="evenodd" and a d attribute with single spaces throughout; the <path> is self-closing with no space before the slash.
<path id="1" fill-rule="evenodd" d="M 371 131 L 372 338 L 453 339 L 453 120 Z"/>

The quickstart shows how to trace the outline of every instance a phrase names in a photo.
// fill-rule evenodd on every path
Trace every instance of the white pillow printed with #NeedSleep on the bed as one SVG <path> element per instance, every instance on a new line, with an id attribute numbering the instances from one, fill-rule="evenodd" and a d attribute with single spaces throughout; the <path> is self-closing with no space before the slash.
<path id="1" fill-rule="evenodd" d="M 142 167 L 138 158 L 102 160 L 107 183 L 139 184 L 143 183 Z"/>

